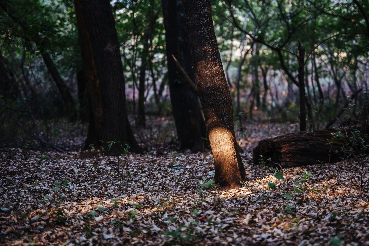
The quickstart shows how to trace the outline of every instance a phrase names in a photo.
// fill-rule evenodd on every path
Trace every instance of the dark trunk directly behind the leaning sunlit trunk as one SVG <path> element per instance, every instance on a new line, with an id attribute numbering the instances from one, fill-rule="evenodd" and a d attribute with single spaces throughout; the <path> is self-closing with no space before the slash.
<path id="1" fill-rule="evenodd" d="M 182 0 L 162 0 L 170 101 L 180 147 L 194 152 L 203 151 L 206 125 L 199 98 L 176 67 L 172 54 L 192 81 L 195 74 L 186 30 L 186 17 Z"/>

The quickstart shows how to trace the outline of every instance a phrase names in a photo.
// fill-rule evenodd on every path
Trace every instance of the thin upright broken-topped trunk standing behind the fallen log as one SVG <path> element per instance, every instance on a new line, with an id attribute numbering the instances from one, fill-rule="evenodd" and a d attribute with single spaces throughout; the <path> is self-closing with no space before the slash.
<path id="1" fill-rule="evenodd" d="M 299 42 L 300 131 L 306 131 L 305 49 Z"/>

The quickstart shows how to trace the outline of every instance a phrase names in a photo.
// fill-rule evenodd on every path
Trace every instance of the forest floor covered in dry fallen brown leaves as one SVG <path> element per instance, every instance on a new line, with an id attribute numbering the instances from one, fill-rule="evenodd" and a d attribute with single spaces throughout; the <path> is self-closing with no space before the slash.
<path id="1" fill-rule="evenodd" d="M 141 155 L 0 149 L 0 245 L 369 245 L 367 157 L 254 165 L 259 140 L 297 126 L 246 123 L 250 181 L 221 190 L 211 153 L 170 151 L 173 121 L 150 121 L 136 132 L 150 147 Z M 73 127 L 56 130 L 61 145 L 83 142 L 85 126 Z"/>

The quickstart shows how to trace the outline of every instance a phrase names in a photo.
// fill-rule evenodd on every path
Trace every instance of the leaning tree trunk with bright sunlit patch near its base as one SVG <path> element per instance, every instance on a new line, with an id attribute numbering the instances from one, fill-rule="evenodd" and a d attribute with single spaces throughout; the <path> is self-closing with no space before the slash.
<path id="1" fill-rule="evenodd" d="M 214 155 L 214 181 L 236 187 L 246 175 L 235 138 L 231 95 L 215 38 L 210 0 L 183 3 L 197 89 Z"/>

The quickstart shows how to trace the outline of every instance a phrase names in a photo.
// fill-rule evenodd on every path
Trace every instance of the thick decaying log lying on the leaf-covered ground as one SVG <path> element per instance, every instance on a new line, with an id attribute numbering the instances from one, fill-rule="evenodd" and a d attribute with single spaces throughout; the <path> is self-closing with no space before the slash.
<path id="1" fill-rule="evenodd" d="M 303 131 L 264 139 L 252 151 L 253 162 L 289 168 L 341 161 L 368 151 L 362 143 L 368 139 L 368 132 L 368 124 L 363 124 L 351 129 Z"/>

